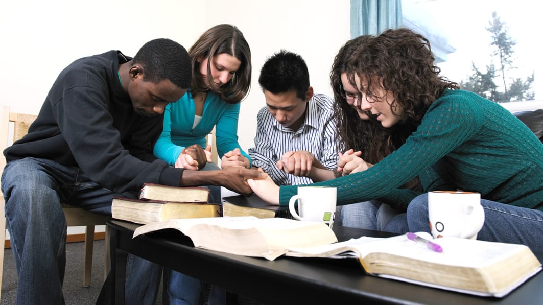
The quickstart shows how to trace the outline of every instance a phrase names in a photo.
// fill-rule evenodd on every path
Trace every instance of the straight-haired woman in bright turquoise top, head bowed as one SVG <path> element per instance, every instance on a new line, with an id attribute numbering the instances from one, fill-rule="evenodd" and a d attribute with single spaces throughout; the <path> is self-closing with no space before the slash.
<path id="1" fill-rule="evenodd" d="M 221 167 L 251 167 L 251 160 L 238 144 L 239 102 L 251 82 L 251 50 L 241 31 L 219 24 L 205 31 L 188 54 L 192 61 L 191 88 L 165 109 L 162 134 L 154 146 L 156 157 L 171 166 L 188 170 L 211 170 L 211 147 L 206 136 L 216 127 Z M 207 162 L 198 160 L 205 156 Z M 204 157 L 201 157 L 204 158 Z M 210 187 L 212 201 L 220 201 L 220 188 Z M 224 303 L 225 291 L 176 271 L 165 270 L 165 304 Z M 202 303 L 202 302 L 200 302 Z"/>

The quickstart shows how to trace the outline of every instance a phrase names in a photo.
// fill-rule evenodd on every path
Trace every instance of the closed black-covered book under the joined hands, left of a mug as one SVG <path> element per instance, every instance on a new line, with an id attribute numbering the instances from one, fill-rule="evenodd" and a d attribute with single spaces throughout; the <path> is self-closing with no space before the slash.
<path id="1" fill-rule="evenodd" d="M 255 216 L 257 218 L 293 218 L 286 206 L 270 205 L 256 194 L 251 196 L 228 196 L 223 198 L 223 216 Z"/>

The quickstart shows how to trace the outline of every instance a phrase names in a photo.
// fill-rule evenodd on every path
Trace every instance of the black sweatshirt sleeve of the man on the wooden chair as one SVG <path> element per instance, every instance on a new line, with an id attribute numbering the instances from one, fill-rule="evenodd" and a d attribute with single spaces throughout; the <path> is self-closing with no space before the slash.
<path id="1" fill-rule="evenodd" d="M 105 100 L 108 99 L 104 92 L 92 86 L 75 86 L 66 88 L 62 99 L 52 102 L 62 137 L 81 170 L 115 192 L 138 189 L 148 181 L 179 185 L 182 171 L 168 170 L 161 160 L 144 162 L 123 147 Z M 132 145 L 144 145 L 150 152 L 150 143 L 146 141 L 150 138 Z"/>

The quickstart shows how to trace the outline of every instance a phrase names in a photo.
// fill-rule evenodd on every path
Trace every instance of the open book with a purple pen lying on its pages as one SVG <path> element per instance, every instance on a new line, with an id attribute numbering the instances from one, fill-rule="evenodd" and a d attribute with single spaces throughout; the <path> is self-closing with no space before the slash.
<path id="1" fill-rule="evenodd" d="M 479 296 L 503 297 L 541 271 L 529 247 L 456 237 L 433 239 L 433 251 L 405 235 L 361 237 L 308 248 L 290 248 L 286 256 L 356 258 L 367 274 Z"/>

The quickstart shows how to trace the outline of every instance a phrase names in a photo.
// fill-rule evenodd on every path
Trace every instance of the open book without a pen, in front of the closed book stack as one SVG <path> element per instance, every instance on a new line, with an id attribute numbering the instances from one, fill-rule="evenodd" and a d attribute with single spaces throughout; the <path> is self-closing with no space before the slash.
<path id="1" fill-rule="evenodd" d="M 336 235 L 325 223 L 254 216 L 159 221 L 136 228 L 134 237 L 165 228 L 181 231 L 191 238 L 195 247 L 269 260 L 284 255 L 288 247 L 337 242 Z"/>

